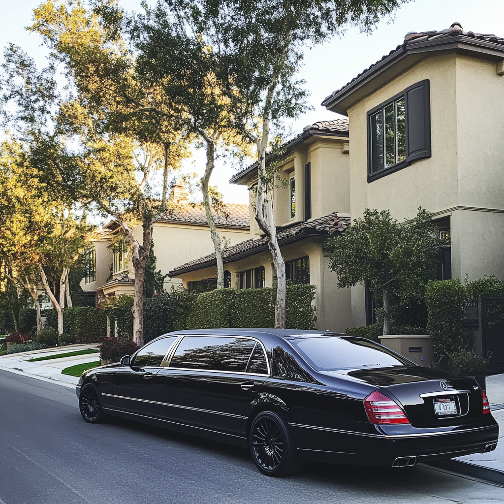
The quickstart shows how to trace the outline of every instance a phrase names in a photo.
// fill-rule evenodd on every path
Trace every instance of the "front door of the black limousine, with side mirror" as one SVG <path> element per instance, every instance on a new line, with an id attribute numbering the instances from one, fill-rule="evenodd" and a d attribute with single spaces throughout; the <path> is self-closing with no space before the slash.
<path id="1" fill-rule="evenodd" d="M 121 413 L 154 416 L 154 376 L 177 338 L 165 337 L 148 343 L 133 356 L 131 365 L 116 370 L 113 396 L 120 416 L 128 416 Z"/>

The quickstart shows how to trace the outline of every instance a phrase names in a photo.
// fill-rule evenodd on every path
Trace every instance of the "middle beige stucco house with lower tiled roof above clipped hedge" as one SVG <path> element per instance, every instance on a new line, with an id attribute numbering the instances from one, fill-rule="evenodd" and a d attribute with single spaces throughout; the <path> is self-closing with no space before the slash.
<path id="1" fill-rule="evenodd" d="M 343 232 L 350 220 L 348 179 L 348 121 L 320 121 L 304 128 L 286 145 L 280 165 L 279 184 L 273 191 L 278 240 L 293 283 L 317 287 L 315 304 L 319 328 L 344 331 L 351 324 L 348 289 L 337 288 L 329 269 L 324 241 Z M 237 173 L 231 183 L 249 190 L 250 234 L 248 239 L 224 251 L 227 286 L 235 289 L 271 287 L 274 268 L 266 238 L 254 217 L 257 166 Z M 215 253 L 177 265 L 169 272 L 188 290 L 199 290 L 216 275 Z"/>

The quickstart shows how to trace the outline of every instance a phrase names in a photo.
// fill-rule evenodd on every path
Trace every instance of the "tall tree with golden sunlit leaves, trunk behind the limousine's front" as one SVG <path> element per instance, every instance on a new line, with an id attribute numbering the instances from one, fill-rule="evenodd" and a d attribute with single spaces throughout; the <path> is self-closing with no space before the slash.
<path id="1" fill-rule="evenodd" d="M 181 134 L 180 112 L 160 86 L 144 86 L 136 75 L 135 54 L 121 36 L 122 12 L 98 5 L 86 10 L 81 2 L 35 9 L 32 31 L 51 48 L 53 63 L 65 65 L 77 90 L 74 100 L 60 106 L 61 132 L 77 134 L 80 153 L 67 153 L 54 142 L 41 151 L 42 162 L 79 201 L 96 205 L 120 224 L 130 243 L 135 271 L 134 341 L 143 344 L 144 275 L 153 226 L 170 212 L 170 173 L 190 154 Z M 63 163 L 47 163 L 47 154 Z M 51 170 L 48 170 L 51 172 Z M 155 188 L 162 172 L 162 191 Z M 142 225 L 142 240 L 134 228 Z"/>

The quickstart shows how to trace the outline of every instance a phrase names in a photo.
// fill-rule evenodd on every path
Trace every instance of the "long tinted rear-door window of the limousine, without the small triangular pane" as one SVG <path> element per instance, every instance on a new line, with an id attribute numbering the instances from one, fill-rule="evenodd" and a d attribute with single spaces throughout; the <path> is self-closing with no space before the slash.
<path id="1" fill-rule="evenodd" d="M 244 372 L 255 344 L 255 341 L 242 338 L 185 336 L 170 367 Z"/>

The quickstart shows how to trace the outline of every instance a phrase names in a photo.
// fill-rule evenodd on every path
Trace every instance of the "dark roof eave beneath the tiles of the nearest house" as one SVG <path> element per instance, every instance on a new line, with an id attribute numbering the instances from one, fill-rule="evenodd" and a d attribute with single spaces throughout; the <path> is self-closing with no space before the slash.
<path id="1" fill-rule="evenodd" d="M 396 75 L 415 65 L 428 53 L 455 51 L 458 54 L 475 56 L 493 61 L 504 59 L 504 47 L 485 40 L 464 35 L 451 38 L 427 40 L 425 42 L 402 45 L 389 57 L 345 86 L 340 92 L 326 98 L 322 105 L 328 110 L 347 115 L 347 110 L 357 101 L 391 81 Z M 393 72 L 388 72 L 395 67 Z M 371 82 L 372 81 L 372 82 Z"/>

